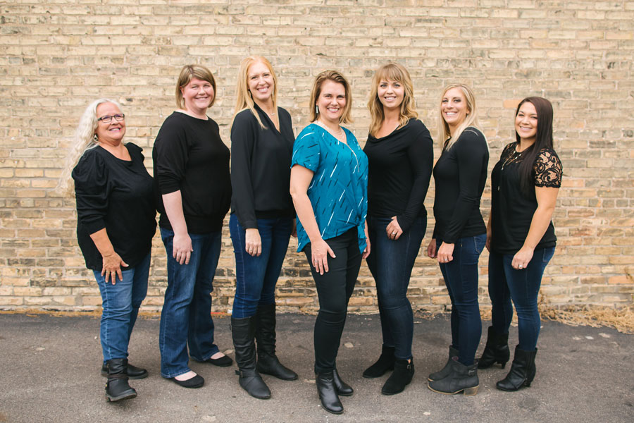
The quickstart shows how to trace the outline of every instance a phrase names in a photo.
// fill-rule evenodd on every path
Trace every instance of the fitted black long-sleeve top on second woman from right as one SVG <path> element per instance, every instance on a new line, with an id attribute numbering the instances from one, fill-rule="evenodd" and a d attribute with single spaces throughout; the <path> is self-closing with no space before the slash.
<path id="1" fill-rule="evenodd" d="M 445 142 L 447 145 L 447 142 Z M 483 133 L 468 127 L 434 166 L 436 183 L 433 238 L 453 244 L 459 238 L 487 233 L 480 198 L 487 182 L 489 150 Z"/>

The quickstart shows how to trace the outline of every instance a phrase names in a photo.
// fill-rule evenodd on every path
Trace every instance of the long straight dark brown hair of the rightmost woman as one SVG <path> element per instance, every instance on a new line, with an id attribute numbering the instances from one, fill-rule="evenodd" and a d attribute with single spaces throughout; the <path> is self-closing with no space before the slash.
<path id="1" fill-rule="evenodd" d="M 519 166 L 520 174 L 520 188 L 521 190 L 529 194 L 535 189 L 533 183 L 533 166 L 535 166 L 535 160 L 537 155 L 540 154 L 545 147 L 553 148 L 552 144 L 552 104 L 543 97 L 526 97 L 520 104 L 517 105 L 515 116 L 519 113 L 519 109 L 522 104 L 531 103 L 535 106 L 537 111 L 537 133 L 535 134 L 535 142 L 533 145 L 524 150 L 524 158 Z M 515 139 L 520 142 L 520 136 L 515 131 Z"/>

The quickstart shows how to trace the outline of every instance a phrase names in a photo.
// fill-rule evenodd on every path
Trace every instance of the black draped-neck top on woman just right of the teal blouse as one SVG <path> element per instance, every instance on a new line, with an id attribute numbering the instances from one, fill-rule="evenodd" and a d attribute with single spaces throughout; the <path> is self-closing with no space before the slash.
<path id="1" fill-rule="evenodd" d="M 363 148 L 370 162 L 368 214 L 397 216 L 407 231 L 418 216 L 427 216 L 425 195 L 434 163 L 433 141 L 423 122 L 410 119 L 383 138 L 368 134 Z"/>

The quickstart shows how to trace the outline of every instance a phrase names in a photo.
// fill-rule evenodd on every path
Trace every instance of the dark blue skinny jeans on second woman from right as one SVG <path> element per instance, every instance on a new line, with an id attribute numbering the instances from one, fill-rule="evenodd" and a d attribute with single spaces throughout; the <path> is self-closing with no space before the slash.
<path id="1" fill-rule="evenodd" d="M 482 336 L 480 305 L 478 305 L 478 259 L 487 235 L 459 238 L 454 243 L 454 259 L 440 263 L 440 271 L 452 300 L 452 345 L 459 350 L 458 361 L 473 364 L 475 350 Z M 442 240 L 436 240 L 440 248 Z"/>

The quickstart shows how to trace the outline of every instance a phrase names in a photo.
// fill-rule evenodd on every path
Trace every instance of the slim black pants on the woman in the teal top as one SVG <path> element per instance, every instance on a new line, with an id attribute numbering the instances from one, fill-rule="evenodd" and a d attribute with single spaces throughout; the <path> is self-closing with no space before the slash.
<path id="1" fill-rule="evenodd" d="M 336 257 L 333 259 L 328 255 L 328 271 L 323 275 L 315 271 L 313 266 L 311 244 L 304 247 L 319 298 L 314 332 L 316 373 L 332 372 L 337 367 L 337 352 L 346 324 L 348 301 L 361 267 L 356 227 L 325 242 Z"/>

